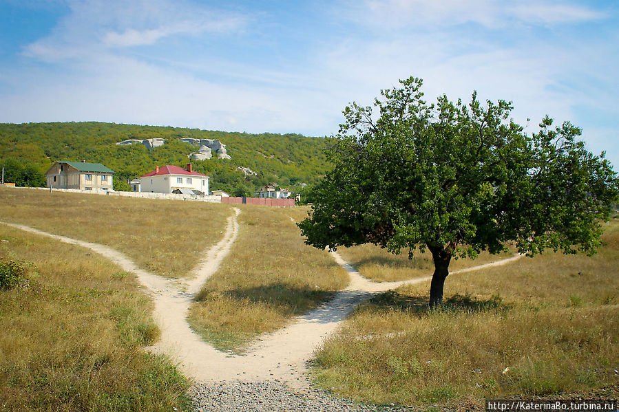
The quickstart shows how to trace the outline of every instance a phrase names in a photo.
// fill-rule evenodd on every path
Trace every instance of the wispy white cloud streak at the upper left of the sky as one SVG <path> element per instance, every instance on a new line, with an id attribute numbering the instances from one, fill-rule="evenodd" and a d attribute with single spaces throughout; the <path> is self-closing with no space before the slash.
<path id="1" fill-rule="evenodd" d="M 108 48 L 154 45 L 178 34 L 233 33 L 246 17 L 170 0 L 68 1 L 71 12 L 43 39 L 26 45 L 27 56 L 43 61 L 80 58 Z"/>

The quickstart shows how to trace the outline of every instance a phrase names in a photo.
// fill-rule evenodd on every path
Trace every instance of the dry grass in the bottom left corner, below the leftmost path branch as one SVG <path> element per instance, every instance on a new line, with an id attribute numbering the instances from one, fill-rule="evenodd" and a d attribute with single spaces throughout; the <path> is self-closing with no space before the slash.
<path id="1" fill-rule="evenodd" d="M 132 274 L 4 225 L 0 259 L 36 265 L 0 291 L 0 411 L 185 409 L 187 380 L 141 349 L 159 331 Z"/>

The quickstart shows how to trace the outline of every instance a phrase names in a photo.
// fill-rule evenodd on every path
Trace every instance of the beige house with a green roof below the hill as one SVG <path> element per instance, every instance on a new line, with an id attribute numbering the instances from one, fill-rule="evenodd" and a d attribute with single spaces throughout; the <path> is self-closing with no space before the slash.
<path id="1" fill-rule="evenodd" d="M 49 188 L 112 191 L 114 171 L 98 163 L 56 162 L 45 172 Z"/>

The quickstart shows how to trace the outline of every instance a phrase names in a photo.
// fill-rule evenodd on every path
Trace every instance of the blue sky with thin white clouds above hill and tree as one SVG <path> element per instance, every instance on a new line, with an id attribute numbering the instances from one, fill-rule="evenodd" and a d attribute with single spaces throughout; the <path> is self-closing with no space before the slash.
<path id="1" fill-rule="evenodd" d="M 614 0 L 0 0 L 0 122 L 333 135 L 409 76 L 569 120 L 619 171 Z"/>

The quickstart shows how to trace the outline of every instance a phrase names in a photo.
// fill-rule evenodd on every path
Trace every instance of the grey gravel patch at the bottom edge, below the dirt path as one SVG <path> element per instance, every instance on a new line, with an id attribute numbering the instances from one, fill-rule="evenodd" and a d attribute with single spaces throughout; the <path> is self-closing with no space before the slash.
<path id="1" fill-rule="evenodd" d="M 197 384 L 191 388 L 189 395 L 193 400 L 192 409 L 196 412 L 412 411 L 398 406 L 357 404 L 316 389 L 295 391 L 273 380 Z"/>

